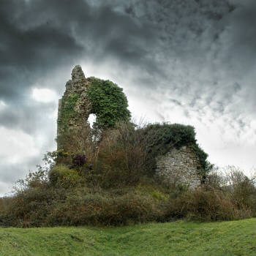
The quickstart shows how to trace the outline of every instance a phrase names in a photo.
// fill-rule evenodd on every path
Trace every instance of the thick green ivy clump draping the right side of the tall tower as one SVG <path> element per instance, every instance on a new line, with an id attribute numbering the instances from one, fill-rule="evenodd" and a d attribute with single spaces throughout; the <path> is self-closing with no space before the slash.
<path id="1" fill-rule="evenodd" d="M 87 95 L 92 104 L 91 113 L 96 115 L 94 127 L 105 129 L 114 127 L 118 121 L 129 120 L 127 97 L 123 89 L 110 80 L 89 78 L 91 86 Z"/>

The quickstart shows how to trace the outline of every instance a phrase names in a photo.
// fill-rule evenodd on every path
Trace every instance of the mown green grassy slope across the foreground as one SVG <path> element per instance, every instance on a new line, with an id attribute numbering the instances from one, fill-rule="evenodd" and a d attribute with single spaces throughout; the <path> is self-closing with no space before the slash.
<path id="1" fill-rule="evenodd" d="M 256 219 L 129 227 L 0 228 L 1 256 L 256 255 Z"/>

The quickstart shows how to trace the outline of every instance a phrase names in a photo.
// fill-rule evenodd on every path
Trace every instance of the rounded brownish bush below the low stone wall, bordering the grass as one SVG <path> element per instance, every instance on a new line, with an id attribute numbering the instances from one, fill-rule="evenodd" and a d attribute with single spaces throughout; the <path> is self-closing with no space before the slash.
<path id="1" fill-rule="evenodd" d="M 238 208 L 224 192 L 204 187 L 185 192 L 176 199 L 170 198 L 167 212 L 169 218 L 187 218 L 200 222 L 253 217 L 251 208 Z"/>

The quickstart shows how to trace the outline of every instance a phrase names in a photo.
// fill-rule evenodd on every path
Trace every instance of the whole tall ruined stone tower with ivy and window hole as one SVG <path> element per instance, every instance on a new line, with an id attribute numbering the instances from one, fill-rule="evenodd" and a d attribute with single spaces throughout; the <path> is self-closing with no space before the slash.
<path id="1" fill-rule="evenodd" d="M 66 83 L 66 91 L 59 99 L 58 150 L 86 153 L 93 147 L 93 140 L 102 138 L 107 129 L 113 129 L 119 121 L 129 121 L 127 107 L 127 97 L 116 83 L 86 78 L 81 67 L 75 66 L 72 80 Z M 90 114 L 96 116 L 93 131 L 88 122 Z"/>

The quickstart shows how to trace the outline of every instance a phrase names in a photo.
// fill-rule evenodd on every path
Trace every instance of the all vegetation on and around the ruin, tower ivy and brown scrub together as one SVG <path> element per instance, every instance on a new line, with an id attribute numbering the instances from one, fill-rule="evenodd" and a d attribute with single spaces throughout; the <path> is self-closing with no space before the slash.
<path id="1" fill-rule="evenodd" d="M 0 198 L 0 225 L 129 225 L 142 222 L 234 220 L 256 217 L 255 180 L 240 170 L 213 172 L 195 129 L 181 124 L 130 121 L 127 98 L 109 80 L 89 78 L 94 129 L 66 132 L 59 151 Z M 77 94 L 65 99 L 61 125 L 76 118 Z M 66 121 L 65 121 L 66 120 Z M 76 120 L 75 120 L 76 121 Z M 192 146 L 200 159 L 201 187 L 157 177 L 156 159 L 172 148 Z"/>

